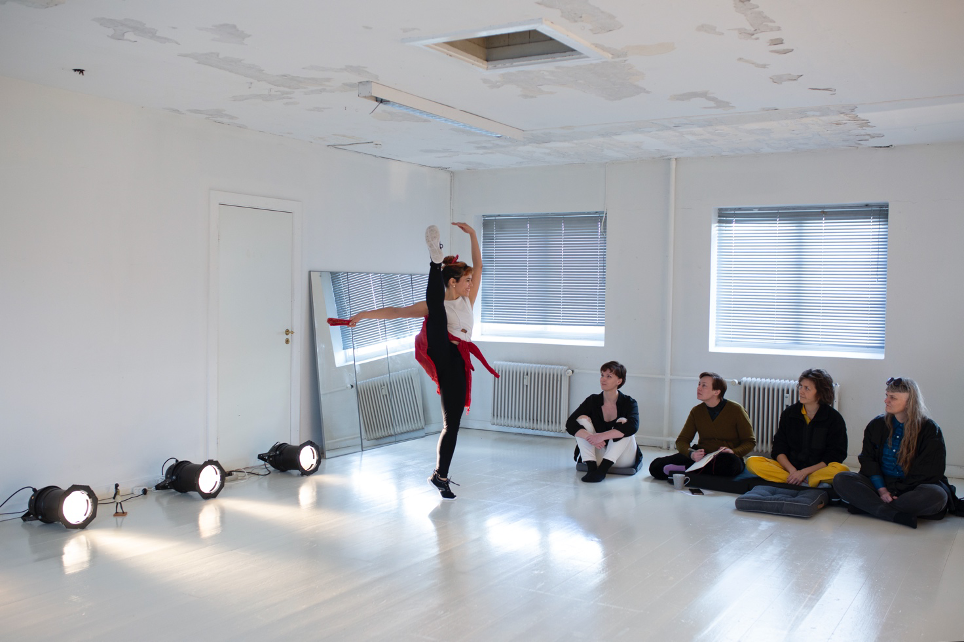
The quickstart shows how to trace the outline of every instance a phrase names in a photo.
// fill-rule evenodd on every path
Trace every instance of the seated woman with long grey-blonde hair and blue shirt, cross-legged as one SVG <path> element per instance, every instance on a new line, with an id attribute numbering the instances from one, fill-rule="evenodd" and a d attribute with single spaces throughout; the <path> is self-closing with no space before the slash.
<path id="1" fill-rule="evenodd" d="M 919 515 L 947 504 L 944 437 L 912 379 L 887 380 L 884 410 L 864 429 L 860 472 L 838 474 L 833 487 L 852 513 L 917 528 Z"/>

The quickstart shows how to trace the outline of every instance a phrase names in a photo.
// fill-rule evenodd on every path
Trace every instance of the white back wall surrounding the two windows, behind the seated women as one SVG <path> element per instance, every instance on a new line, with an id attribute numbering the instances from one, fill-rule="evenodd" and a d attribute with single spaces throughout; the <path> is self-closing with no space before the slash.
<path id="1" fill-rule="evenodd" d="M 677 165 L 673 244 L 672 368 L 675 377 L 716 370 L 727 378 L 795 378 L 823 367 L 842 384 L 841 412 L 856 455 L 866 423 L 882 411 L 889 376 L 916 378 L 944 427 L 949 469 L 964 470 L 964 435 L 956 426 L 956 387 L 964 374 L 964 145 L 908 146 L 800 154 L 682 159 Z M 661 437 L 663 323 L 669 207 L 669 161 L 563 166 L 455 176 L 456 219 L 482 214 L 608 211 L 606 346 L 577 348 L 485 343 L 490 360 L 595 369 L 618 359 L 630 372 L 624 390 L 641 402 L 640 441 Z M 713 353 L 708 348 L 710 239 L 715 208 L 796 203 L 890 203 L 887 345 L 883 360 Z M 484 293 L 483 293 L 484 296 Z M 487 375 L 477 377 L 491 390 Z M 574 378 L 572 406 L 596 392 L 593 375 Z M 488 392 L 474 395 L 475 420 L 490 416 Z M 736 398 L 739 393 L 736 392 Z M 696 403 L 695 381 L 673 380 L 675 435 Z M 487 414 L 488 413 L 488 414 Z"/>

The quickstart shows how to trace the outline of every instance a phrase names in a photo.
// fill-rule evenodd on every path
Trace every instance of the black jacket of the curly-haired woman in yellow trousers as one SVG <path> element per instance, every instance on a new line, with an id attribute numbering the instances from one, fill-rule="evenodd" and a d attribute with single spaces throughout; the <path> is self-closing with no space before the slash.
<path id="1" fill-rule="evenodd" d="M 780 427 L 773 436 L 773 459 L 786 455 L 794 468 L 807 468 L 818 462 L 829 464 L 847 458 L 847 424 L 832 406 L 820 404 L 808 424 L 799 401 L 787 406 L 780 415 Z"/>

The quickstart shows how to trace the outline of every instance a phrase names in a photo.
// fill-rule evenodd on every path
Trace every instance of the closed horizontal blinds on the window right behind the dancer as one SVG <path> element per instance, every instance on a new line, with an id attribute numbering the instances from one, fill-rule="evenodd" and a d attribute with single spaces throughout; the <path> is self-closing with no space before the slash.
<path id="1" fill-rule="evenodd" d="M 482 217 L 482 321 L 606 325 L 604 212 Z"/>

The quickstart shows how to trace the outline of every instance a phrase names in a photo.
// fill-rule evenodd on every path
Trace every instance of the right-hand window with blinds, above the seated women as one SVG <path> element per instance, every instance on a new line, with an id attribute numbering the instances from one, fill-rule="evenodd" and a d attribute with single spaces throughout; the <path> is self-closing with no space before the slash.
<path id="1" fill-rule="evenodd" d="M 710 350 L 884 356 L 886 203 L 720 208 Z"/>

